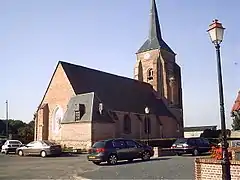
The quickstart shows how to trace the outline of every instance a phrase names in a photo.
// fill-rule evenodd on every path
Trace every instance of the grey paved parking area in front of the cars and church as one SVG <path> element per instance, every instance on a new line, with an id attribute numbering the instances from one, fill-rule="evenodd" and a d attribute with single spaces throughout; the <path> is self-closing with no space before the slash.
<path id="1" fill-rule="evenodd" d="M 18 157 L 0 155 L 0 179 L 194 179 L 194 157 L 172 156 L 148 162 L 96 166 L 85 155 Z"/>

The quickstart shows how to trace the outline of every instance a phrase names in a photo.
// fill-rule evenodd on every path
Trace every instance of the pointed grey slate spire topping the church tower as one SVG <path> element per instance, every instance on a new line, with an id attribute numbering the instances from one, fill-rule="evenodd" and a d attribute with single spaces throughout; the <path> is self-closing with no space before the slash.
<path id="1" fill-rule="evenodd" d="M 138 50 L 137 53 L 153 50 L 153 49 L 164 49 L 172 54 L 175 54 L 173 50 L 164 42 L 162 39 L 161 28 L 158 18 L 158 11 L 156 6 L 156 1 L 152 1 L 152 6 L 150 10 L 150 30 L 148 39 Z"/>

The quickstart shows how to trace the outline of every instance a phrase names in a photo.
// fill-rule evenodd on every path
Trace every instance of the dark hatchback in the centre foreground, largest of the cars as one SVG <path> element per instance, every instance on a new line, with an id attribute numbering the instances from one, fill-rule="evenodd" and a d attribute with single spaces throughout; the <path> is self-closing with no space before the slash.
<path id="1" fill-rule="evenodd" d="M 87 156 L 89 161 L 99 165 L 101 162 L 108 162 L 111 165 L 118 160 L 133 161 L 141 158 L 144 161 L 150 160 L 153 156 L 153 148 L 140 144 L 129 139 L 109 139 L 96 142 L 89 150 Z"/>

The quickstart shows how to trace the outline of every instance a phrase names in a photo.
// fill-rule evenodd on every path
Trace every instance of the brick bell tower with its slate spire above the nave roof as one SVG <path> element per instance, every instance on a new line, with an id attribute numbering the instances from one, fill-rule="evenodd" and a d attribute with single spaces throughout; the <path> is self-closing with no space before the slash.
<path id="1" fill-rule="evenodd" d="M 151 84 L 158 98 L 181 109 L 181 69 L 175 61 L 176 54 L 162 38 L 155 0 L 151 0 L 148 38 L 136 55 L 134 79 Z"/>

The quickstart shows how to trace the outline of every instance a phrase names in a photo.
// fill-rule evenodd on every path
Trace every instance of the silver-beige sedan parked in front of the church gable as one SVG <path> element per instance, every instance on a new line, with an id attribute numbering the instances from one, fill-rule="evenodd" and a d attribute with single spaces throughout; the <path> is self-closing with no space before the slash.
<path id="1" fill-rule="evenodd" d="M 16 153 L 19 156 L 25 155 L 40 155 L 41 157 L 60 155 L 62 153 L 61 145 L 53 142 L 43 141 L 32 141 L 27 145 L 17 148 Z"/>

